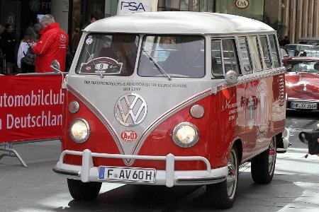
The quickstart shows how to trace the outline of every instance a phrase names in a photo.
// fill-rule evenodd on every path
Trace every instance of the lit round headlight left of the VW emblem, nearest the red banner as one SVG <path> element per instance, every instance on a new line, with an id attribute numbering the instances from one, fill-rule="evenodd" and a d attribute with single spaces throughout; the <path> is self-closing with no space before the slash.
<path id="1" fill-rule="evenodd" d="M 69 136 L 76 143 L 84 143 L 90 136 L 89 124 L 84 119 L 74 119 L 69 126 Z"/>

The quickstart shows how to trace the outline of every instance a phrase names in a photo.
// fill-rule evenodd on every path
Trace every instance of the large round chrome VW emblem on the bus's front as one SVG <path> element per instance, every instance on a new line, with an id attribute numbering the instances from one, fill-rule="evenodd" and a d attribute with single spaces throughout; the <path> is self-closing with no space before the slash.
<path id="1" fill-rule="evenodd" d="M 147 104 L 140 95 L 127 93 L 116 102 L 114 114 L 116 120 L 124 126 L 135 126 L 145 119 Z"/>

